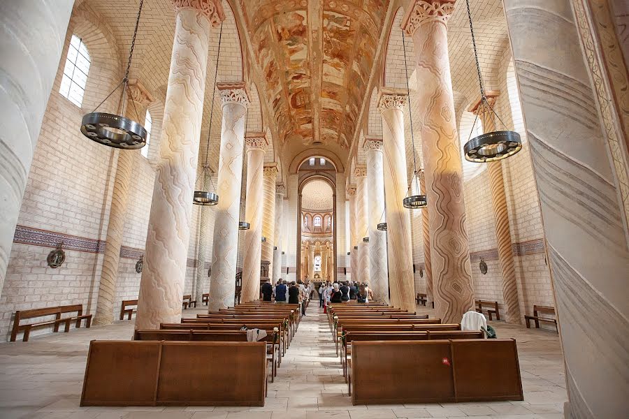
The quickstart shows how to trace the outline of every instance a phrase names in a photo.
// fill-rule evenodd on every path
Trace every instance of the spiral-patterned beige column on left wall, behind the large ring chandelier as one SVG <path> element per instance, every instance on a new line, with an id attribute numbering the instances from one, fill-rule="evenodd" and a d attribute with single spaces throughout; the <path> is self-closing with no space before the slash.
<path id="1" fill-rule="evenodd" d="M 134 103 L 131 103 L 131 101 Z M 144 124 L 144 120 L 138 121 L 138 118 L 140 118 L 140 115 L 146 114 L 146 108 L 152 101 L 152 96 L 142 83 L 138 82 L 138 80 L 129 80 L 129 104 L 126 106 L 126 117 Z M 138 115 L 136 115 L 136 110 Z M 127 216 L 126 210 L 127 202 L 129 201 L 133 162 L 138 158 L 139 154 L 138 150 L 120 150 L 118 152 L 113 195 L 109 210 L 109 223 L 107 225 L 105 253 L 103 253 L 103 270 L 101 272 L 101 280 L 99 281 L 96 314 L 94 314 L 94 324 L 97 325 L 110 325 L 115 320 L 113 304 L 116 298 L 120 248 L 122 247 L 124 221 Z"/>

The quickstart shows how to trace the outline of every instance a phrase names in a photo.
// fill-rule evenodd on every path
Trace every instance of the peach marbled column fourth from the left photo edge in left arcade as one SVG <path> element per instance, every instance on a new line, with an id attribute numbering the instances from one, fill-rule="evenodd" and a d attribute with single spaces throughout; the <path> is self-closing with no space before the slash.
<path id="1" fill-rule="evenodd" d="M 243 251 L 243 294 L 241 302 L 258 300 L 260 297 L 260 263 L 262 252 L 263 168 L 264 153 L 268 142 L 263 133 L 247 134 L 247 196 L 245 221 L 251 224 L 245 230 Z"/>

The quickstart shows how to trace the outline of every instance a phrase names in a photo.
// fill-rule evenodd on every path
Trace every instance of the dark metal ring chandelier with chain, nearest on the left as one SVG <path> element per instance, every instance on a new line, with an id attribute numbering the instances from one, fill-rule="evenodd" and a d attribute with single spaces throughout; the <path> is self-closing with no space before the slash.
<path id="1" fill-rule="evenodd" d="M 126 72 L 122 81 L 103 99 L 99 105 L 86 114 L 81 120 L 81 133 L 90 140 L 99 142 L 108 147 L 118 149 L 140 149 L 146 145 L 147 131 L 145 128 L 133 119 L 124 117 L 125 99 L 129 94 L 129 69 L 131 68 L 131 58 L 133 57 L 133 48 L 136 46 L 136 36 L 138 34 L 138 26 L 140 24 L 140 15 L 142 14 L 142 6 L 144 0 L 140 0 L 140 8 L 138 9 L 138 17 L 136 18 L 136 29 L 133 30 L 133 39 L 131 40 L 131 48 L 129 50 L 129 59 L 126 61 Z M 118 89 L 122 87 L 120 99 L 117 109 L 121 115 L 110 114 L 106 112 L 96 112 L 105 101 L 110 98 Z M 135 103 L 131 101 L 133 111 L 138 116 L 138 110 Z"/>

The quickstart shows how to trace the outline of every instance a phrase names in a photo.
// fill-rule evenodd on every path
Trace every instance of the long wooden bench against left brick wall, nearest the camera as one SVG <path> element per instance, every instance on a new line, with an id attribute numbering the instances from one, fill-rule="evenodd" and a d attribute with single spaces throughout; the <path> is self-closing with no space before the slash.
<path id="1" fill-rule="evenodd" d="M 62 314 L 68 314 L 77 312 L 76 316 L 62 317 Z M 38 321 L 36 323 L 27 323 L 21 324 L 22 320 L 26 320 L 28 318 L 37 318 L 44 316 L 55 316 L 52 320 Z M 31 335 L 31 329 L 39 328 L 42 326 L 52 325 L 53 332 L 59 332 L 59 325 L 64 323 L 64 332 L 70 331 L 70 323 L 73 321 L 76 322 L 75 327 L 81 327 L 81 321 L 85 319 L 85 327 L 89 328 L 92 325 L 92 314 L 83 314 L 83 306 L 82 304 L 72 304 L 65 306 L 57 306 L 57 307 L 45 307 L 43 309 L 30 309 L 30 310 L 18 310 L 15 311 L 15 318 L 13 319 L 13 330 L 11 331 L 11 339 L 10 341 L 15 342 L 17 339 L 17 334 L 20 332 L 24 332 L 24 336 L 22 337 L 22 341 L 29 341 L 29 336 Z"/>

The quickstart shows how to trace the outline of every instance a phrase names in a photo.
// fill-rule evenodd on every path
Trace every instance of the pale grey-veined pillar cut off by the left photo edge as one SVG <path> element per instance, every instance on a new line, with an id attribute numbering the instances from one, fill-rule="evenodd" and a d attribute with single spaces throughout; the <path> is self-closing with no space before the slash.
<path id="1" fill-rule="evenodd" d="M 73 4 L 0 3 L 0 293 Z"/>

